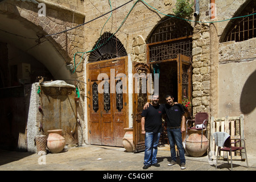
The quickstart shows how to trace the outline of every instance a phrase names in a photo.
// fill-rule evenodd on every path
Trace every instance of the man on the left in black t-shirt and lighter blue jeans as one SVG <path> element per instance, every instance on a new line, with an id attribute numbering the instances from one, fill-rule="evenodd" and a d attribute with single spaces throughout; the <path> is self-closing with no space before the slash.
<path id="1" fill-rule="evenodd" d="M 160 166 L 156 155 L 158 152 L 160 134 L 162 132 L 162 114 L 164 106 L 159 105 L 158 101 L 159 96 L 153 96 L 152 105 L 144 109 L 141 114 L 142 134 L 145 134 L 143 169 L 147 169 L 150 166 Z"/>

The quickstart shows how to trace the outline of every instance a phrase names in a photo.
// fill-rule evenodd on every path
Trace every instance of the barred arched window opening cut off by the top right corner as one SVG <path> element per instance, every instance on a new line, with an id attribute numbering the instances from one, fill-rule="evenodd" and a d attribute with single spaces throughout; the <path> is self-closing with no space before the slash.
<path id="1" fill-rule="evenodd" d="M 256 1 L 247 0 L 234 13 L 233 17 L 245 16 L 229 21 L 222 33 L 220 42 L 241 42 L 256 37 Z M 246 16 L 250 15 L 250 16 Z"/>

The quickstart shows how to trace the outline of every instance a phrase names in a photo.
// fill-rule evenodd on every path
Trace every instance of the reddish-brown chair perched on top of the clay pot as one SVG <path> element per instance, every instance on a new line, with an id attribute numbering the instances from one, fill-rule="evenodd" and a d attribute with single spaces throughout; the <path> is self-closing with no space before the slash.
<path id="1" fill-rule="evenodd" d="M 208 122 L 208 113 L 197 113 L 195 115 L 195 119 L 188 119 L 186 122 L 186 139 L 188 135 L 188 130 L 201 130 L 201 146 L 203 143 L 203 131 L 207 129 L 207 122 Z M 190 127 L 188 127 L 188 122 L 190 123 Z M 193 123 L 195 123 L 195 126 L 193 126 Z M 205 135 L 207 137 L 207 130 L 205 131 Z"/>

